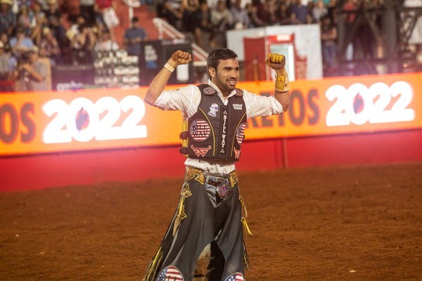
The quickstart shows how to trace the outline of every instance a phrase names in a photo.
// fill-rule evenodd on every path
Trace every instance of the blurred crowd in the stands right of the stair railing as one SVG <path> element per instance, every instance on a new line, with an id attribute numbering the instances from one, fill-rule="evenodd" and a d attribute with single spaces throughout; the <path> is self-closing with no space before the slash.
<path id="1" fill-rule="evenodd" d="M 404 0 L 397 0 L 404 1 Z M 158 16 L 184 32 L 191 32 L 196 44 L 204 48 L 225 46 L 226 30 L 271 25 L 321 25 L 321 47 L 324 74 L 338 67 L 338 6 L 344 11 L 371 11 L 382 31 L 381 10 L 384 0 L 159 0 Z M 343 14 L 347 33 L 356 13 Z M 384 31 L 385 32 L 385 31 Z M 368 22 L 359 23 L 347 59 L 382 55 L 382 32 L 373 32 Z M 206 37 L 207 40 L 204 40 Z"/>

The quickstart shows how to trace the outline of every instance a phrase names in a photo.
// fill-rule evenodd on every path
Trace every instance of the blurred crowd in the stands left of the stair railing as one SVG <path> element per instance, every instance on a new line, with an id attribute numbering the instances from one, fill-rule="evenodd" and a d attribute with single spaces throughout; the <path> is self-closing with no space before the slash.
<path id="1" fill-rule="evenodd" d="M 60 0 L 58 0 L 60 1 Z M 49 65 L 94 63 L 97 51 L 120 48 L 114 0 L 0 0 L 0 91 L 46 89 Z M 122 35 L 129 54 L 139 54 L 146 32 L 139 19 Z M 15 83 L 18 82 L 18 83 Z"/>

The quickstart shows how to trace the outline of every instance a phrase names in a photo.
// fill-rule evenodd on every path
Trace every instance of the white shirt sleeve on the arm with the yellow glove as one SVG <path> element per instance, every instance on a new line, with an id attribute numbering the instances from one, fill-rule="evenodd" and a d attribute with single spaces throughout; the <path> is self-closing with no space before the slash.
<path id="1" fill-rule="evenodd" d="M 243 99 L 245 100 L 246 116 L 248 118 L 283 113 L 283 106 L 274 96 L 258 96 L 243 90 Z"/>

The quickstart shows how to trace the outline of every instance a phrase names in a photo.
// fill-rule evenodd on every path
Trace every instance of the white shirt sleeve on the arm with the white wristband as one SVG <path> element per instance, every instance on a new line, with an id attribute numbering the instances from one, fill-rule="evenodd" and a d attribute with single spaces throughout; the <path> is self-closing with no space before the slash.
<path id="1" fill-rule="evenodd" d="M 162 110 L 180 110 L 186 118 L 191 117 L 200 103 L 198 87 L 189 85 L 176 90 L 163 91 L 154 106 Z"/>

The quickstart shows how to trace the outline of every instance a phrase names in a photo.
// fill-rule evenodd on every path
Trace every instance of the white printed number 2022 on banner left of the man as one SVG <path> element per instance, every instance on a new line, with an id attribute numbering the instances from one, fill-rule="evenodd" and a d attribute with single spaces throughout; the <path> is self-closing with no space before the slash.
<path id="1" fill-rule="evenodd" d="M 111 97 L 103 97 L 93 103 L 88 98 L 75 98 L 70 104 L 64 100 L 49 100 L 43 107 L 47 116 L 53 119 L 44 130 L 44 143 L 70 143 L 146 138 L 145 125 L 139 122 L 145 115 L 145 104 L 138 96 L 126 96 L 120 103 Z M 129 113 L 117 125 L 122 112 Z M 106 112 L 102 118 L 100 116 Z"/>

